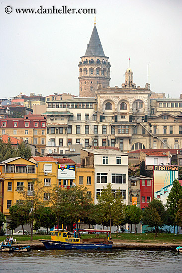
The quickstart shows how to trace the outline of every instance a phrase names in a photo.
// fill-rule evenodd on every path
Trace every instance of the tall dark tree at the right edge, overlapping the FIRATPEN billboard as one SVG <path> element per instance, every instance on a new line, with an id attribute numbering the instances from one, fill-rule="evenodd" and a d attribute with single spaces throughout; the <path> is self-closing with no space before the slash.
<path id="1" fill-rule="evenodd" d="M 170 214 L 172 215 L 174 222 L 174 228 L 176 226 L 176 213 L 178 212 L 178 201 L 182 198 L 182 186 L 180 185 L 178 179 L 173 181 L 173 187 L 168 195 L 166 207 L 169 209 Z M 177 225 L 177 234 L 178 234 L 178 225 Z"/>

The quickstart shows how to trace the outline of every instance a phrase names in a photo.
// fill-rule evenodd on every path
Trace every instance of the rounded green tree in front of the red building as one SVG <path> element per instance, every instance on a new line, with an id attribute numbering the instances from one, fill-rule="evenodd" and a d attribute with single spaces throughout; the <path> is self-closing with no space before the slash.
<path id="1" fill-rule="evenodd" d="M 162 227 L 165 223 L 165 209 L 164 205 L 159 199 L 153 199 L 148 203 L 148 206 L 145 206 L 143 211 L 142 220 L 144 224 L 147 224 L 149 227 L 155 227 L 155 235 L 157 235 L 159 227 Z"/>

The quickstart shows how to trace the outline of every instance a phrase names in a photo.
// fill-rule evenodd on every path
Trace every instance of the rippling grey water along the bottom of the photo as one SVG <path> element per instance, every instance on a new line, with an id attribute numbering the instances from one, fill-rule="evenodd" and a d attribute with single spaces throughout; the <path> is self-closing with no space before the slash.
<path id="1" fill-rule="evenodd" d="M 146 250 L 32 250 L 0 253 L 0 273 L 182 273 L 182 253 Z"/>

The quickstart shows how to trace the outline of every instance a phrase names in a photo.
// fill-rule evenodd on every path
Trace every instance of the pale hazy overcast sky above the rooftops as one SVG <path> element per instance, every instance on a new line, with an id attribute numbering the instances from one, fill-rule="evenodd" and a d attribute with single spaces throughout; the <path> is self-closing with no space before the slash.
<path id="1" fill-rule="evenodd" d="M 5 8 L 12 7 L 7 14 Z M 79 96 L 80 57 L 94 27 L 93 14 L 16 14 L 17 8 L 96 9 L 96 27 L 111 64 L 110 86 L 125 71 L 141 87 L 179 98 L 182 93 L 182 0 L 1 0 L 0 98 L 20 93 Z M 9 11 L 9 9 L 8 9 Z"/>

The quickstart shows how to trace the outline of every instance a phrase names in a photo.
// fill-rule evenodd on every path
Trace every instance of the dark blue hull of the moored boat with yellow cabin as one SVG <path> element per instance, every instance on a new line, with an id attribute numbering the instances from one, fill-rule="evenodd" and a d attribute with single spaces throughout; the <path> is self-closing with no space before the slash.
<path id="1" fill-rule="evenodd" d="M 88 243 L 88 244 L 80 244 L 80 243 L 67 243 L 60 241 L 52 241 L 52 240 L 39 240 L 41 241 L 46 249 L 111 249 L 113 243 Z"/>

